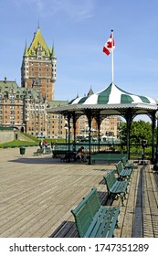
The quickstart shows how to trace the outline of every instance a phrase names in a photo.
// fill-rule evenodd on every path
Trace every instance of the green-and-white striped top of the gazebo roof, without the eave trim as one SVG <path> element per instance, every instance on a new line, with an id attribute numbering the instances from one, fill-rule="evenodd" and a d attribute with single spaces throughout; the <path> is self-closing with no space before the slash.
<path id="1" fill-rule="evenodd" d="M 76 99 L 69 101 L 68 104 L 138 104 L 145 103 L 156 105 L 156 101 L 147 96 L 140 96 L 121 90 L 114 83 L 100 92 L 94 93 L 86 97 L 77 97 Z"/>

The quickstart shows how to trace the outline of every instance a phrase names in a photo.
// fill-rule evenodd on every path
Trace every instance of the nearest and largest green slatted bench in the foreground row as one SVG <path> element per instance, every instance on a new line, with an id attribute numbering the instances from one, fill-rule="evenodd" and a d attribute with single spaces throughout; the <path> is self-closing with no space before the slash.
<path id="1" fill-rule="evenodd" d="M 118 227 L 120 208 L 104 207 L 96 187 L 84 197 L 78 207 L 71 210 L 79 238 L 112 238 L 113 231 Z"/>

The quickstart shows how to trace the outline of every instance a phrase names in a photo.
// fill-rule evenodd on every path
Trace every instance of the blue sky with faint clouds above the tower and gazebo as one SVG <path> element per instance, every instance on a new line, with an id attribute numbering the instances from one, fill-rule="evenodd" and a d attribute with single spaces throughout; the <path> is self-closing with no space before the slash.
<path id="1" fill-rule="evenodd" d="M 25 45 L 38 23 L 55 47 L 55 100 L 101 91 L 111 84 L 111 55 L 102 52 L 111 35 L 114 83 L 132 94 L 158 99 L 157 0 L 5 0 L 0 3 L 0 80 L 21 86 Z"/>

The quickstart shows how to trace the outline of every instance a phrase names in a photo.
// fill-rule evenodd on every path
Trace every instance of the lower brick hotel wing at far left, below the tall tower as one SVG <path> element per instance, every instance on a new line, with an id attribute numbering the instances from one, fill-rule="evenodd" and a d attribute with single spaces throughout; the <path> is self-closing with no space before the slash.
<path id="1" fill-rule="evenodd" d="M 37 135 L 47 131 L 47 101 L 35 89 L 0 81 L 0 125 Z M 39 131 L 40 128 L 40 131 Z"/>

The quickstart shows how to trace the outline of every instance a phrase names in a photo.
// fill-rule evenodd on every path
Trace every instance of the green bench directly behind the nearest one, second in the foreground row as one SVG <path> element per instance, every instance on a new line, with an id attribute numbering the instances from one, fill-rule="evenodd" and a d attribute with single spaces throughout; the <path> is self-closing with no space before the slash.
<path id="1" fill-rule="evenodd" d="M 108 188 L 109 197 L 113 197 L 113 199 L 119 199 L 121 197 L 121 204 L 124 207 L 123 200 L 126 199 L 127 193 L 127 180 L 117 180 L 114 174 L 114 170 L 108 172 L 106 176 L 104 176 L 105 183 Z"/>

